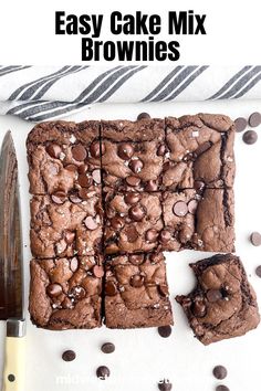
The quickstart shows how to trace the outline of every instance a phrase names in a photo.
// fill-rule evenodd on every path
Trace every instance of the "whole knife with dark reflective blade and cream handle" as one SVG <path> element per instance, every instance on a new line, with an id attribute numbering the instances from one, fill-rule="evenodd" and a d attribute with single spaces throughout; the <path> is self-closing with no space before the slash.
<path id="1" fill-rule="evenodd" d="M 7 320 L 3 391 L 24 391 L 25 320 L 18 161 L 11 131 L 0 154 L 0 320 Z"/>

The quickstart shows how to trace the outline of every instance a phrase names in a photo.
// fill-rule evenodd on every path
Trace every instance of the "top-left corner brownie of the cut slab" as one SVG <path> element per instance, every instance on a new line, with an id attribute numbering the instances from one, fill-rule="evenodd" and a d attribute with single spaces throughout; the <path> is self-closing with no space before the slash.
<path id="1" fill-rule="evenodd" d="M 101 193 L 100 123 L 49 121 L 28 136 L 30 192 Z"/>

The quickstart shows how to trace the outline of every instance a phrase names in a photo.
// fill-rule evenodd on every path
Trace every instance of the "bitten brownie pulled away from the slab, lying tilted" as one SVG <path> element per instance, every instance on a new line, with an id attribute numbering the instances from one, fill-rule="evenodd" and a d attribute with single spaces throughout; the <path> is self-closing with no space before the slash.
<path id="1" fill-rule="evenodd" d="M 242 336 L 259 325 L 255 294 L 238 256 L 218 254 L 190 267 L 197 286 L 176 300 L 203 345 Z"/>

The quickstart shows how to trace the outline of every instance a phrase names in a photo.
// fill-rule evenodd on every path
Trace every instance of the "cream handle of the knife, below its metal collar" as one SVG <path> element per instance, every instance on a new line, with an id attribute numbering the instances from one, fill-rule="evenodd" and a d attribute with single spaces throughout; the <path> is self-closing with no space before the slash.
<path id="1" fill-rule="evenodd" d="M 7 337 L 2 391 L 25 391 L 25 337 Z"/>

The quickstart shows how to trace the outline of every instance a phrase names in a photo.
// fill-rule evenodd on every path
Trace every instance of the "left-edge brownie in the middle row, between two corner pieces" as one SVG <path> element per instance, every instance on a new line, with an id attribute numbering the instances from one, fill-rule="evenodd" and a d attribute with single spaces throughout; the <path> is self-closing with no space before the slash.
<path id="1" fill-rule="evenodd" d="M 88 200 L 34 196 L 31 200 L 31 250 L 34 257 L 94 255 L 101 252 L 101 198 Z"/>

